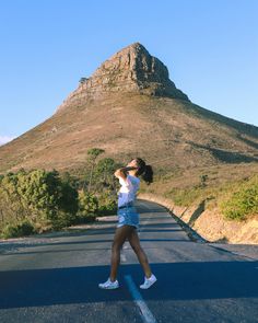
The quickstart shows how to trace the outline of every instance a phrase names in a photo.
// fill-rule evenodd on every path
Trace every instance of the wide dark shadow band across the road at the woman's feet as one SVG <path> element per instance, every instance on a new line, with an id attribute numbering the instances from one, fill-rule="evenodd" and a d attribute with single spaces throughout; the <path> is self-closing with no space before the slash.
<path id="1" fill-rule="evenodd" d="M 159 281 L 145 300 L 200 300 L 258 297 L 258 262 L 152 264 Z M 142 282 L 140 265 L 120 267 L 118 290 L 99 290 L 109 266 L 0 272 L 0 309 L 114 302 L 130 298 L 124 276 Z"/>

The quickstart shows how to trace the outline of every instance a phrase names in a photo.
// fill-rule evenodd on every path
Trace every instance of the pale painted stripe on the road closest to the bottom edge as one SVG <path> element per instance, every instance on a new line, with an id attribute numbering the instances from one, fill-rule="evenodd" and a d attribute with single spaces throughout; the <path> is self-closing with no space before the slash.
<path id="1" fill-rule="evenodd" d="M 133 301 L 140 308 L 143 322 L 144 323 L 156 323 L 156 319 L 153 316 L 152 312 L 150 311 L 146 303 L 144 302 L 144 300 L 143 300 L 142 296 L 140 295 L 139 290 L 137 289 L 136 284 L 133 282 L 131 276 L 126 275 L 125 279 L 126 279 L 129 290 L 132 295 Z"/>

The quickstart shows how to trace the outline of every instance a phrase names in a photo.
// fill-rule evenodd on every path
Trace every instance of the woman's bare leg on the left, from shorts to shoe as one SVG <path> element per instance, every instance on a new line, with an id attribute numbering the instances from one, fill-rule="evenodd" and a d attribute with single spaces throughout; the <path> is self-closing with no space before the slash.
<path id="1" fill-rule="evenodd" d="M 115 281 L 117 278 L 117 269 L 120 264 L 120 250 L 124 242 L 131 235 L 131 231 L 134 230 L 131 226 L 122 226 L 117 228 L 114 242 L 112 245 L 112 268 L 110 268 L 110 280 Z"/>

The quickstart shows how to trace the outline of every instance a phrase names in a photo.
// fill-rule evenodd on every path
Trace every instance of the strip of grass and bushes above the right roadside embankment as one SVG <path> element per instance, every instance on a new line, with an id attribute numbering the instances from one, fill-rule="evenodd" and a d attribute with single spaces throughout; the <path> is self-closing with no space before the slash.
<path id="1" fill-rule="evenodd" d="M 206 208 L 216 208 L 230 220 L 245 220 L 258 215 L 256 163 L 249 163 L 248 168 L 225 164 L 188 172 L 179 169 L 160 172 L 154 184 L 150 188 L 142 185 L 141 192 L 168 198 L 183 207 L 206 201 Z"/>

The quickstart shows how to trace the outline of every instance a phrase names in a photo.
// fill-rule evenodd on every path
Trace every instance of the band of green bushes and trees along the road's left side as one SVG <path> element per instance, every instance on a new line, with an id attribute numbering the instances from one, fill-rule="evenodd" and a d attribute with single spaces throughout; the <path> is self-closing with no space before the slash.
<path id="1" fill-rule="evenodd" d="M 60 230 L 116 210 L 117 164 L 89 150 L 80 178 L 56 170 L 20 170 L 0 175 L 0 234 L 3 238 Z"/>

